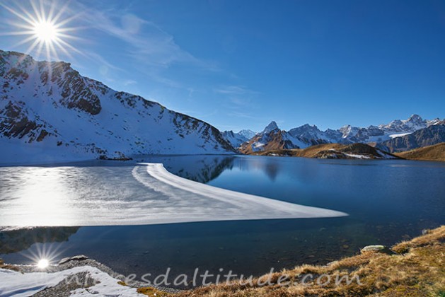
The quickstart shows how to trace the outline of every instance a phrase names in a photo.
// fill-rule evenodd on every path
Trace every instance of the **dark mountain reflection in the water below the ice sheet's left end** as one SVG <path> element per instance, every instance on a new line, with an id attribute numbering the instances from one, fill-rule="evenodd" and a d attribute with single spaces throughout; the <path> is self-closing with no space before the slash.
<path id="1" fill-rule="evenodd" d="M 62 243 L 76 233 L 79 227 L 47 227 L 1 231 L 0 254 L 20 252 L 34 243 Z"/>

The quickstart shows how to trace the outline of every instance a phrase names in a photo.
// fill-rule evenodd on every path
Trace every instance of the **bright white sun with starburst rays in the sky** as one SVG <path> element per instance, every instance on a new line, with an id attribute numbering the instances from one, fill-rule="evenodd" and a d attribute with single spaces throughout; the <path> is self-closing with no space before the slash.
<path id="1" fill-rule="evenodd" d="M 48 3 L 42 0 L 30 0 L 29 3 L 30 6 L 27 8 L 18 2 L 11 6 L 0 3 L 0 6 L 18 18 L 11 23 L 13 30 L 0 35 L 23 35 L 24 38 L 18 40 L 13 47 L 29 44 L 26 53 L 33 53 L 37 58 L 44 54 L 47 61 L 58 61 L 59 53 L 65 54 L 70 59 L 73 59 L 72 52 L 81 54 L 70 44 L 73 40 L 79 40 L 79 37 L 73 35 L 78 28 L 69 26 L 79 14 L 68 17 L 64 15 L 69 2 L 63 6 L 57 6 L 56 1 Z"/>

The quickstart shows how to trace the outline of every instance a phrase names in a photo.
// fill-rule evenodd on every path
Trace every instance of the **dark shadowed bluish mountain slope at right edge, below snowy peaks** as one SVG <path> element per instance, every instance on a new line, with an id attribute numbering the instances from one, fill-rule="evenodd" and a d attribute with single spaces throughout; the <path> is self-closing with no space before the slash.
<path id="1" fill-rule="evenodd" d="M 378 148 L 391 152 L 410 151 L 415 148 L 432 146 L 445 142 L 444 121 L 425 129 L 420 129 L 412 134 L 396 137 L 377 144 Z"/>

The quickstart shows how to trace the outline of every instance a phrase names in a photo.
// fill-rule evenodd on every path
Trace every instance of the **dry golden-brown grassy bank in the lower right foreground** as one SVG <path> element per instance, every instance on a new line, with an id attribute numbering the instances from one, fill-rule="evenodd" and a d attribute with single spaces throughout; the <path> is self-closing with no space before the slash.
<path id="1" fill-rule="evenodd" d="M 329 266 L 303 265 L 272 275 L 277 281 L 286 274 L 298 280 L 301 274 L 359 276 L 362 284 L 352 281 L 320 286 L 316 279 L 279 286 L 243 286 L 237 281 L 185 291 L 179 296 L 445 296 L 445 226 L 426 235 L 394 245 L 395 255 L 363 252 L 333 262 Z M 265 278 L 267 276 L 262 276 Z M 321 281 L 323 283 L 323 281 Z M 256 281 L 254 281 L 256 284 Z"/>

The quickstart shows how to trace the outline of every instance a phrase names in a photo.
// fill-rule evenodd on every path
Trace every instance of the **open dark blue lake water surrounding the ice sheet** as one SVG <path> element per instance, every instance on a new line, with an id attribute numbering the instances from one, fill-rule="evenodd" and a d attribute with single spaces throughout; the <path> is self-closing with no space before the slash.
<path id="1" fill-rule="evenodd" d="M 259 156 L 139 157 L 176 175 L 263 197 L 344 211 L 347 217 L 35 228 L 0 233 L 6 262 L 84 254 L 122 274 L 189 274 L 195 268 L 259 275 L 325 264 L 364 245 L 392 245 L 445 223 L 445 163 Z M 71 164 L 71 165 L 76 165 Z M 95 161 L 79 168 L 134 163 Z M 81 169 L 79 169 L 81 170 Z M 1 198 L 1 197 L 0 197 Z M 45 251 L 45 252 L 43 252 Z"/>

